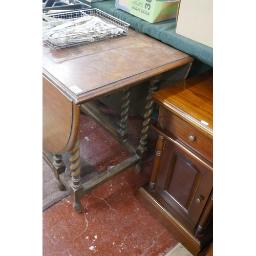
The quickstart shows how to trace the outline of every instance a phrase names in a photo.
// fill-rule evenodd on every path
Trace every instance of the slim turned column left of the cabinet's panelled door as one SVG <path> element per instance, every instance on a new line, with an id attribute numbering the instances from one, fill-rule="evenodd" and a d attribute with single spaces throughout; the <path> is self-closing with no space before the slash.
<path id="1" fill-rule="evenodd" d="M 150 184 L 148 185 L 148 190 L 150 191 L 155 190 L 155 185 L 156 185 L 156 180 L 157 180 L 157 175 L 159 170 L 159 163 L 160 163 L 160 158 L 161 158 L 163 147 L 164 147 L 164 142 L 165 142 L 164 137 L 159 134 L 157 139 L 157 144 L 156 144 L 155 160 L 153 164 L 152 175 L 150 179 Z"/>

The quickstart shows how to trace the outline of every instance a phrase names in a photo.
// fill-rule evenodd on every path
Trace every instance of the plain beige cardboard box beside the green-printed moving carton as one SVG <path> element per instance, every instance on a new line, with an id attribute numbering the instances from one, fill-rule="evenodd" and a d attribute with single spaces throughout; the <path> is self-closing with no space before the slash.
<path id="1" fill-rule="evenodd" d="M 213 48 L 213 0 L 180 0 L 176 33 Z"/>

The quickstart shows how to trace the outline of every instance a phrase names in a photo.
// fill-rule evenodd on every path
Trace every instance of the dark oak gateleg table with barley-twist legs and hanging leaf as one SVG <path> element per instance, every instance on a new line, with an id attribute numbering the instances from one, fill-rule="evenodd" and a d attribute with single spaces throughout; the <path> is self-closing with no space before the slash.
<path id="1" fill-rule="evenodd" d="M 90 44 L 53 50 L 42 46 L 42 146 L 43 158 L 51 167 L 60 190 L 67 188 L 80 212 L 81 199 L 89 191 L 136 165 L 137 173 L 147 157 L 147 138 L 152 121 L 157 82 L 162 73 L 182 69 L 184 80 L 193 58 L 149 36 L 129 29 L 127 35 Z M 177 74 L 178 75 L 178 74 Z M 131 145 L 126 127 L 130 108 L 130 88 L 148 82 L 144 122 L 138 146 Z M 123 91 L 120 125 L 94 104 L 100 97 Z M 84 112 L 132 153 L 130 158 L 81 184 L 79 122 Z M 71 154 L 71 177 L 65 175 L 62 154 Z"/>

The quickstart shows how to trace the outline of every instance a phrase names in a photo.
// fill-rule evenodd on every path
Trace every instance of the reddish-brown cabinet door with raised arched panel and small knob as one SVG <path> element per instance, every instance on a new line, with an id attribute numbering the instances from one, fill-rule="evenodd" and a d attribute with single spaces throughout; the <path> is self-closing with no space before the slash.
<path id="1" fill-rule="evenodd" d="M 211 189 L 211 170 L 193 155 L 190 148 L 166 138 L 156 192 L 195 228 Z"/>

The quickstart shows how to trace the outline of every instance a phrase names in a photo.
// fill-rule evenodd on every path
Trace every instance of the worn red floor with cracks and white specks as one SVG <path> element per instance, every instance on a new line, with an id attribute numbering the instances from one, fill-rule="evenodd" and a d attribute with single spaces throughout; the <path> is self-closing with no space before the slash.
<path id="1" fill-rule="evenodd" d="M 142 122 L 142 117 L 130 119 L 129 133 L 136 143 Z M 79 214 L 70 196 L 43 212 L 44 256 L 160 256 L 178 244 L 135 196 L 151 174 L 157 134 L 150 131 L 149 156 L 141 175 L 133 166 L 91 191 L 83 197 Z M 85 114 L 81 116 L 80 150 L 99 173 L 130 155 Z"/>

